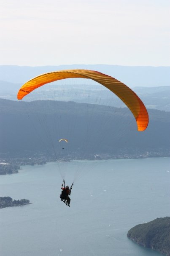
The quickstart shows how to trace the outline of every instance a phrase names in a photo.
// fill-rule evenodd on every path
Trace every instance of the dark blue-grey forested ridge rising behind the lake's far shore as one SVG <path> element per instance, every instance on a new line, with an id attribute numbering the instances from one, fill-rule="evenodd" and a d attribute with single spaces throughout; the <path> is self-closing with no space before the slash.
<path id="1" fill-rule="evenodd" d="M 138 132 L 127 108 L 60 101 L 0 99 L 0 154 L 47 152 L 79 156 L 167 156 L 170 112 L 149 110 L 150 122 Z M 61 138 L 69 143 L 60 144 Z M 64 150 L 62 150 L 64 148 Z M 53 151 L 53 152 L 54 152 Z"/>

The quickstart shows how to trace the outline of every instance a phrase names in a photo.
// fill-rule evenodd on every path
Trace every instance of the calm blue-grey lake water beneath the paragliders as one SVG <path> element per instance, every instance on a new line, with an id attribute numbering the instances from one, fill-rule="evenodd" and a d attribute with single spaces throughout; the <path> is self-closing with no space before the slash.
<path id="1" fill-rule="evenodd" d="M 170 216 L 170 158 L 67 163 L 68 185 L 80 172 L 70 208 L 59 199 L 58 164 L 22 168 L 0 176 L 0 196 L 32 203 L 0 209 L 0 255 L 161 255 L 136 245 L 127 231 Z"/>

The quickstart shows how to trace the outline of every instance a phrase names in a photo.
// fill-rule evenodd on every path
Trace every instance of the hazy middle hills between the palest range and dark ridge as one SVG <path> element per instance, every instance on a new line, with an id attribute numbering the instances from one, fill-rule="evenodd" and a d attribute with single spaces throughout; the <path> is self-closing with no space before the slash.
<path id="1" fill-rule="evenodd" d="M 17 100 L 17 92 L 21 86 L 22 84 L 19 83 L 0 81 L 0 98 Z M 48 85 L 35 90 L 33 99 L 42 99 L 39 97 L 39 92 L 46 95 L 50 89 L 51 87 Z M 170 86 L 135 87 L 132 89 L 141 98 L 146 108 L 170 111 Z M 58 100 L 125 107 L 116 95 L 100 84 L 56 84 L 54 82 L 53 90 L 55 90 Z M 44 97 L 44 99 L 46 98 Z M 51 97 L 51 100 L 53 99 L 54 97 Z M 26 100 L 29 100 L 29 97 Z"/>

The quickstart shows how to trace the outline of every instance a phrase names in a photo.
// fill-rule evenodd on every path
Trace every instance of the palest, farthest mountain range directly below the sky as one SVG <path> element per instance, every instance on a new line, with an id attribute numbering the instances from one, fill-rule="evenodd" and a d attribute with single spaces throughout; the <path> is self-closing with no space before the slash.
<path id="1" fill-rule="evenodd" d="M 156 87 L 170 85 L 170 67 L 129 67 L 118 65 L 60 65 L 43 67 L 0 66 L 0 80 L 23 84 L 31 78 L 57 70 L 86 69 L 111 75 L 130 88 L 136 86 Z M 84 79 L 83 79 L 84 80 Z M 91 81 L 89 81 L 90 83 Z M 93 82 L 91 82 L 93 83 Z"/>

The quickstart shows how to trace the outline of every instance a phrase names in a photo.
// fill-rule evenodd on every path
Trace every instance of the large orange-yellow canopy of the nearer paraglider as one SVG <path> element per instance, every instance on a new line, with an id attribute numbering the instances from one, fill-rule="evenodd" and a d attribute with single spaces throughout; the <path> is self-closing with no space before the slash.
<path id="1" fill-rule="evenodd" d="M 18 100 L 37 89 L 38 87 L 66 78 L 89 78 L 111 90 L 130 109 L 134 115 L 138 131 L 144 131 L 148 126 L 148 112 L 140 98 L 128 86 L 115 78 L 93 70 L 61 70 L 39 75 L 32 78 L 19 89 Z"/>

